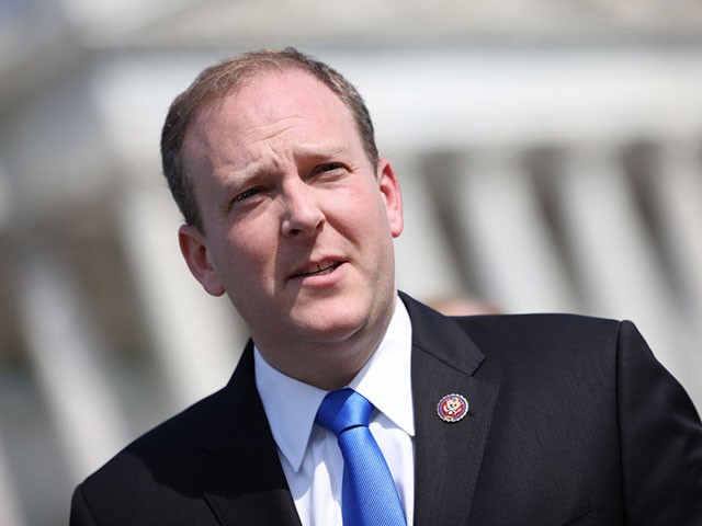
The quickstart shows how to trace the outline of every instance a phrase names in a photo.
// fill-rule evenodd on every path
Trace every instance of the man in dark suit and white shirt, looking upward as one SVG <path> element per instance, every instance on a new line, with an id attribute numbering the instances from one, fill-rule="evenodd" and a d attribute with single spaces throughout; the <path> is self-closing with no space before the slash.
<path id="1" fill-rule="evenodd" d="M 702 425 L 631 323 L 398 297 L 398 181 L 336 71 L 222 62 L 161 146 L 183 256 L 251 341 L 227 387 L 78 487 L 72 525 L 358 524 L 352 460 L 315 420 L 344 387 L 377 409 L 400 524 L 702 524 Z"/>

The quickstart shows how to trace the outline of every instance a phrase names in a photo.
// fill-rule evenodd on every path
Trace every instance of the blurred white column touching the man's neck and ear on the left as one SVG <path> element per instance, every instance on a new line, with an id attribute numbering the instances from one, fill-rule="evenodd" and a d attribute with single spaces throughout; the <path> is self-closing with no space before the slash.
<path id="1" fill-rule="evenodd" d="M 227 299 L 208 296 L 190 275 L 166 188 L 132 193 L 118 221 L 168 398 L 183 409 L 226 385 L 246 332 Z"/>

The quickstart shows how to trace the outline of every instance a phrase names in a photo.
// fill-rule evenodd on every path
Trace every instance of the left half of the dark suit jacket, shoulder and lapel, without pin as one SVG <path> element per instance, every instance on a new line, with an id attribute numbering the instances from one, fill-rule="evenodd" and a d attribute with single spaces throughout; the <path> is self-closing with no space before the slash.
<path id="1" fill-rule="evenodd" d="M 70 524 L 298 525 L 256 389 L 251 344 L 224 389 L 80 484 Z"/>

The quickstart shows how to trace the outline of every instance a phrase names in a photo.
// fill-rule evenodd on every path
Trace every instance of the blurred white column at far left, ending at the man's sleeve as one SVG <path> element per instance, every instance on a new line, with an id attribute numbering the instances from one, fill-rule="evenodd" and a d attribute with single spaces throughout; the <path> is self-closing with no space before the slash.
<path id="1" fill-rule="evenodd" d="M 124 447 L 128 434 L 98 358 L 102 344 L 70 276 L 37 250 L 19 267 L 19 320 L 72 487 Z"/>

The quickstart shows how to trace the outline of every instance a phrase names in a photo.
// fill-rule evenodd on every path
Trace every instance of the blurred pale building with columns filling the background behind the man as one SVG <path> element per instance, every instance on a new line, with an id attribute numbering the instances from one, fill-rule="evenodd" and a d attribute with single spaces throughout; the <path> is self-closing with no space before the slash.
<path id="1" fill-rule="evenodd" d="M 0 524 L 67 524 L 227 381 L 246 332 L 181 261 L 160 126 L 203 67 L 286 45 L 371 108 L 401 289 L 632 319 L 702 408 L 702 3 L 0 0 Z"/>

